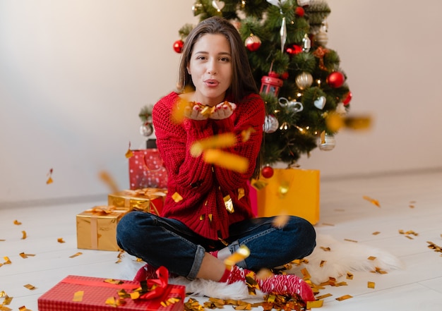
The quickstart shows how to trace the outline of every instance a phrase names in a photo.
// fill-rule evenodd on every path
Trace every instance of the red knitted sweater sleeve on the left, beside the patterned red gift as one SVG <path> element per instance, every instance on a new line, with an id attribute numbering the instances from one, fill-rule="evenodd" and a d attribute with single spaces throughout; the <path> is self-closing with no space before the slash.
<path id="1" fill-rule="evenodd" d="M 169 189 L 185 197 L 198 186 L 198 193 L 202 195 L 213 188 L 212 166 L 202 157 L 192 157 L 189 150 L 194 141 L 213 135 L 213 128 L 207 120 L 186 119 L 183 123 L 174 123 L 172 109 L 178 99 L 177 94 L 172 93 L 153 107 L 157 147 L 168 171 Z"/>

